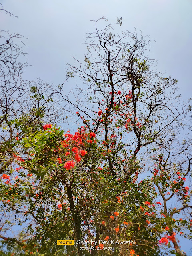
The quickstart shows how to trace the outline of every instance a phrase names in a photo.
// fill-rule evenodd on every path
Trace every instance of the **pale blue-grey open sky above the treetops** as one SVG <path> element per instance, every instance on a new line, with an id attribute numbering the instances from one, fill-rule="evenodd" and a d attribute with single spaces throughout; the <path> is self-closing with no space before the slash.
<path id="1" fill-rule="evenodd" d="M 178 94 L 192 98 L 192 0 L 2 0 L 8 14 L 0 15 L 0 30 L 19 33 L 25 40 L 29 66 L 26 80 L 40 77 L 56 85 L 66 79 L 66 62 L 74 56 L 84 61 L 86 32 L 105 16 L 110 23 L 122 17 L 120 31 L 129 30 L 150 36 L 151 56 L 158 60 L 157 69 L 178 79 Z M 114 31 L 116 33 L 116 31 Z M 80 86 L 80 84 L 78 84 Z M 75 88 L 71 80 L 66 90 Z M 186 242 L 182 248 L 192 255 Z M 190 253 L 191 254 L 190 254 Z"/>

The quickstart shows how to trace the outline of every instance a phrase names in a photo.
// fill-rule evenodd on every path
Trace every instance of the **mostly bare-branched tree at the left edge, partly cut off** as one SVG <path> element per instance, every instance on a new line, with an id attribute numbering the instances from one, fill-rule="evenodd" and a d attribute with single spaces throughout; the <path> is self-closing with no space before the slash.
<path id="1" fill-rule="evenodd" d="M 0 6 L 0 10 L 4 10 L 2 4 Z M 22 73 L 28 64 L 20 43 L 24 46 L 25 39 L 19 34 L 0 31 L 0 174 L 13 162 L 16 140 L 42 128 L 43 122 L 54 123 L 58 116 L 47 83 L 40 78 L 23 79 Z"/>

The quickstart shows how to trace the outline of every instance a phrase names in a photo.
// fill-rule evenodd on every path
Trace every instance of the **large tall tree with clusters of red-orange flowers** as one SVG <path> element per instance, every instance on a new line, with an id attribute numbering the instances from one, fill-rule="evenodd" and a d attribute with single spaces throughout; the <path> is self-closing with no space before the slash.
<path id="1" fill-rule="evenodd" d="M 85 65 L 67 74 L 87 88 L 74 101 L 65 84 L 54 90 L 81 128 L 46 124 L 16 142 L 26 154 L 14 155 L 15 177 L 2 176 L 5 212 L 16 216 L 1 238 L 20 255 L 186 255 L 177 236 L 192 231 L 192 143 L 189 134 L 182 140 L 190 104 L 174 96 L 177 80 L 156 72 L 150 40 L 115 36 L 114 24 L 98 29 L 102 20 L 88 34 Z M 15 240 L 7 232 L 14 223 L 26 230 Z"/>

